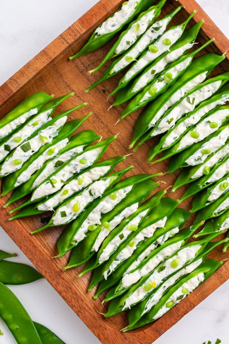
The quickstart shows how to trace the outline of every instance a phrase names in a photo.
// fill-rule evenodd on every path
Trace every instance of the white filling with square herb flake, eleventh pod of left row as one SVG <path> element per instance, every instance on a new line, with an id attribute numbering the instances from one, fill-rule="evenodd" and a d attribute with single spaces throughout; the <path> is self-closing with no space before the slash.
<path id="1" fill-rule="evenodd" d="M 110 241 L 110 243 L 107 244 L 107 246 L 103 249 L 103 252 L 101 253 L 100 257 L 99 257 L 99 264 L 101 264 L 103 261 L 109 259 L 110 255 L 112 254 L 112 252 L 114 251 L 114 249 L 116 247 L 118 247 L 123 240 L 125 240 L 129 234 L 133 233 L 129 227 L 131 225 L 136 225 L 138 226 L 140 221 L 142 220 L 142 218 L 147 214 L 147 210 L 145 210 L 144 212 L 139 213 L 135 218 L 133 218 L 133 220 L 131 220 L 127 226 L 125 226 L 123 228 L 123 230 L 116 235 L 116 237 L 114 239 L 112 239 Z"/>

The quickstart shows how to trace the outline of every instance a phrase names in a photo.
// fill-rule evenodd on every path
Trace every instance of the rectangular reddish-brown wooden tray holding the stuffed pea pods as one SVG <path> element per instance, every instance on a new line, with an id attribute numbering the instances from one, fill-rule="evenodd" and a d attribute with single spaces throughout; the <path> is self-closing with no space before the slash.
<path id="1" fill-rule="evenodd" d="M 112 108 L 107 112 L 107 108 L 114 102 L 114 98 L 112 97 L 107 101 L 107 96 L 117 86 L 119 76 L 110 78 L 91 90 L 88 94 L 84 93 L 84 90 L 92 82 L 101 77 L 109 63 L 106 64 L 104 68 L 101 68 L 99 72 L 92 75 L 88 75 L 87 71 L 99 65 L 114 43 L 114 40 L 98 51 L 73 61 L 68 61 L 68 56 L 79 51 L 87 42 L 94 29 L 107 18 L 108 15 L 116 10 L 122 2 L 123 1 L 120 0 L 101 0 L 4 83 L 0 87 L 1 117 L 7 114 L 7 112 L 21 100 L 34 92 L 42 90 L 49 94 L 54 93 L 55 96 L 58 97 L 75 91 L 76 95 L 68 98 L 61 104 L 58 108 L 58 112 L 74 107 L 83 101 L 88 101 L 90 105 L 72 114 L 72 117 L 76 118 L 86 115 L 90 110 L 94 111 L 94 114 L 83 123 L 78 131 L 93 129 L 98 134 L 103 135 L 103 138 L 111 135 L 113 136 L 121 131 L 118 138 L 113 141 L 107 149 L 103 159 L 130 153 L 131 151 L 128 149 L 128 146 L 133 136 L 134 125 L 140 111 L 128 116 L 123 121 L 119 122 L 117 126 L 115 126 L 115 122 L 119 118 L 122 106 Z M 204 19 L 205 23 L 198 34 L 197 41 L 199 44 L 204 44 L 209 38 L 213 36 L 216 38 L 215 44 L 208 46 L 205 52 L 222 54 L 228 50 L 228 39 L 194 0 L 167 0 L 164 6 L 165 9 L 162 9 L 160 18 L 179 5 L 185 6 L 185 8 L 174 17 L 170 25 L 180 24 L 194 9 L 196 9 L 197 13 L 190 23 L 188 23 L 187 28 L 194 25 L 199 20 Z M 229 71 L 227 58 L 220 66 L 215 68 L 211 76 L 215 76 L 224 71 Z M 105 94 L 103 93 L 104 89 L 106 90 Z M 55 113 L 57 113 L 57 111 Z M 120 163 L 116 170 L 133 164 L 135 168 L 129 171 L 126 176 L 137 173 L 166 172 L 168 169 L 168 161 L 163 161 L 155 165 L 150 165 L 146 162 L 148 150 L 152 143 L 153 140 L 151 142 L 146 142 L 136 153 L 130 155 L 126 161 Z M 161 183 L 160 188 L 165 189 L 169 185 L 173 185 L 178 174 L 179 171 L 176 171 L 176 173 L 172 175 L 164 175 L 160 178 L 155 178 L 155 180 L 164 181 L 166 184 Z M 185 187 L 182 187 L 173 194 L 168 191 L 167 196 L 178 199 L 183 195 L 185 189 Z M 155 192 L 158 190 L 159 188 L 156 189 Z M 4 205 L 9 197 L 10 195 L 1 198 L 0 204 Z M 180 206 L 185 209 L 191 209 L 191 201 L 190 199 L 186 200 Z M 17 205 L 20 203 L 21 202 L 18 202 Z M 14 207 L 15 205 L 11 205 L 9 209 Z M 31 230 L 42 226 L 40 218 L 37 216 L 8 222 L 9 209 L 4 209 L 1 213 L 1 225 L 5 232 L 10 235 L 89 329 L 105 344 L 152 343 L 229 278 L 229 262 L 226 261 L 211 278 L 161 319 L 134 332 L 123 334 L 119 331 L 128 324 L 127 313 L 124 312 L 110 319 L 103 318 L 103 315 L 100 313 L 106 312 L 107 305 L 101 304 L 105 293 L 100 295 L 101 297 L 98 300 L 94 301 L 92 299 L 94 292 L 87 292 L 91 274 L 88 273 L 79 279 L 77 275 L 82 270 L 82 267 L 69 269 L 65 272 L 61 270 L 61 267 L 67 264 L 70 252 L 61 259 L 52 258 L 57 254 L 56 244 L 63 227 L 48 229 L 31 236 L 29 235 Z M 45 216 L 47 215 L 44 214 L 44 217 Z M 191 217 L 189 219 L 186 226 L 192 224 L 193 218 L 194 217 Z M 215 258 L 217 260 L 228 258 L 228 253 L 222 254 L 221 252 L 222 247 L 215 249 L 211 253 L 210 258 Z"/>

